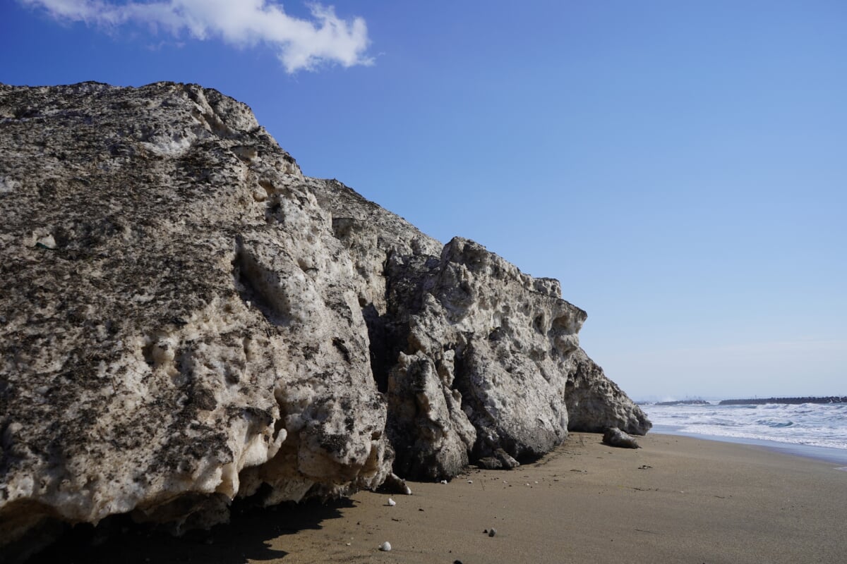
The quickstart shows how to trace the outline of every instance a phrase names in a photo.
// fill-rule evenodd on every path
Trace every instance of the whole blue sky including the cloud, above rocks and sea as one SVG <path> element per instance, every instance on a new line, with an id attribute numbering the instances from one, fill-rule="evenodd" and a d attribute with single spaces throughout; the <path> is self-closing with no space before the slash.
<path id="1" fill-rule="evenodd" d="M 5 0 L 0 82 L 196 82 L 562 281 L 635 398 L 847 394 L 847 3 Z"/>

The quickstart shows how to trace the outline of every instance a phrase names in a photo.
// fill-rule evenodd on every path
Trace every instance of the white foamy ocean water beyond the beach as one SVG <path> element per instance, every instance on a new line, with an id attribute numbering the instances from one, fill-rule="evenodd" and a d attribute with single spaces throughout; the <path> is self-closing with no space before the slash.
<path id="1" fill-rule="evenodd" d="M 653 432 L 788 450 L 847 464 L 847 403 L 642 405 Z"/>

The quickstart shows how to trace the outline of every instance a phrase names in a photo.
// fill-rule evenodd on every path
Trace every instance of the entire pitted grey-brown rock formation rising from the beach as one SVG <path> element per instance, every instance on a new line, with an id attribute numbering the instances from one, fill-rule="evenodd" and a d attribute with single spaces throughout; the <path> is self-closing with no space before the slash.
<path id="1" fill-rule="evenodd" d="M 0 545 L 650 428 L 558 282 L 304 177 L 215 90 L 0 85 L 0 217 Z"/>

